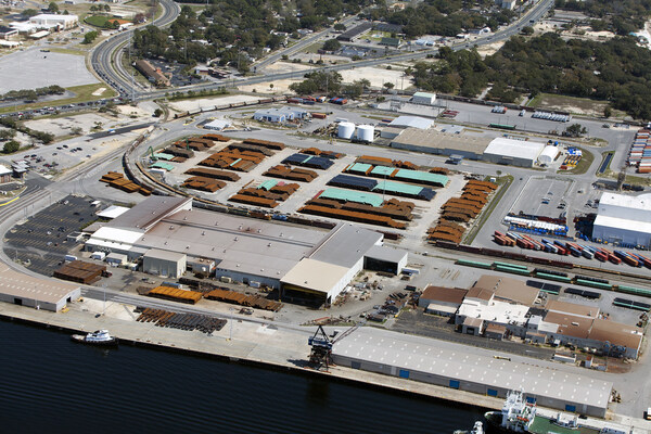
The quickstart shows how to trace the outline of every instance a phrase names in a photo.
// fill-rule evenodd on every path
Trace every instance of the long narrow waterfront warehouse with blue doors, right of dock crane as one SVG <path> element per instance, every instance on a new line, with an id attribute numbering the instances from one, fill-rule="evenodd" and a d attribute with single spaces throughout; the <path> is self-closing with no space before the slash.
<path id="1" fill-rule="evenodd" d="M 520 390 L 527 400 L 603 418 L 613 383 L 534 363 L 459 352 L 450 343 L 360 328 L 332 348 L 339 366 L 505 397 Z"/>

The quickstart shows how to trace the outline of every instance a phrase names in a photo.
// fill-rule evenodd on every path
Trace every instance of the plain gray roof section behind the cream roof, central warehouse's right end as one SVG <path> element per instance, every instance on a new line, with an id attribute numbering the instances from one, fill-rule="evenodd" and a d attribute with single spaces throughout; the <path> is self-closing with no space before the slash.
<path id="1" fill-rule="evenodd" d="M 353 267 L 376 243 L 382 234 L 350 224 L 341 224 L 328 239 L 315 248 L 310 259 L 322 263 Z"/>

